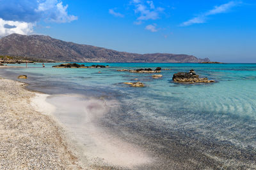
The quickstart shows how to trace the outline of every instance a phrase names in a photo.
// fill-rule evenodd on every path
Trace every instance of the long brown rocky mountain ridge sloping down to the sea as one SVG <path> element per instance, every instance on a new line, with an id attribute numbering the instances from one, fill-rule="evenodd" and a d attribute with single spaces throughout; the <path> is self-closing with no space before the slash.
<path id="1" fill-rule="evenodd" d="M 127 53 L 91 45 L 79 45 L 49 36 L 11 34 L 0 39 L 0 55 L 67 62 L 209 62 L 193 55 Z"/>

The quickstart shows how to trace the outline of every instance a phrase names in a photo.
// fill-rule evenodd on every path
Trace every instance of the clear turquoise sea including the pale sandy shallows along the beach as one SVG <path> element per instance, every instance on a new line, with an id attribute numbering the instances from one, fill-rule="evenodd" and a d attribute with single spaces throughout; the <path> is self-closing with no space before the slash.
<path id="1" fill-rule="evenodd" d="M 256 169 L 256 64 L 52 67 L 58 64 L 8 64 L 24 67 L 0 69 L 0 76 L 49 94 L 52 115 L 86 161 L 113 169 Z M 162 78 L 117 71 L 156 67 Z M 174 73 L 190 69 L 216 82 L 172 81 Z M 20 74 L 28 79 L 18 80 Z M 136 81 L 145 87 L 124 84 Z"/>

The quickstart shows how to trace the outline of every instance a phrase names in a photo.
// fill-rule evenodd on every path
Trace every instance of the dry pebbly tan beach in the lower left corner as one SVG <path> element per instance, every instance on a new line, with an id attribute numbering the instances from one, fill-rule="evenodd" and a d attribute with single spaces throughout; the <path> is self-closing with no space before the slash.
<path id="1" fill-rule="evenodd" d="M 1 169 L 84 169 L 60 127 L 31 106 L 35 92 L 0 79 Z"/>

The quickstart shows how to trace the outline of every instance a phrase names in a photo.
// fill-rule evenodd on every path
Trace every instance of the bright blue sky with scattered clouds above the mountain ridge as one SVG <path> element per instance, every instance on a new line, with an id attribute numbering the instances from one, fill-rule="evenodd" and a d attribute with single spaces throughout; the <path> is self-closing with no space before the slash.
<path id="1" fill-rule="evenodd" d="M 255 0 L 0 0 L 0 37 L 256 63 Z"/>

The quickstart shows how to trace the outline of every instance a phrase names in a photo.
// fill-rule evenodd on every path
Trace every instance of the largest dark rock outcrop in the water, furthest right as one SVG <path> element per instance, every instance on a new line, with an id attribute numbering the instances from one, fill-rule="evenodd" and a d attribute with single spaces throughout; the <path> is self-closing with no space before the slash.
<path id="1" fill-rule="evenodd" d="M 199 78 L 193 69 L 189 73 L 175 73 L 172 80 L 178 83 L 213 83 L 214 80 L 208 80 L 208 78 Z"/>

